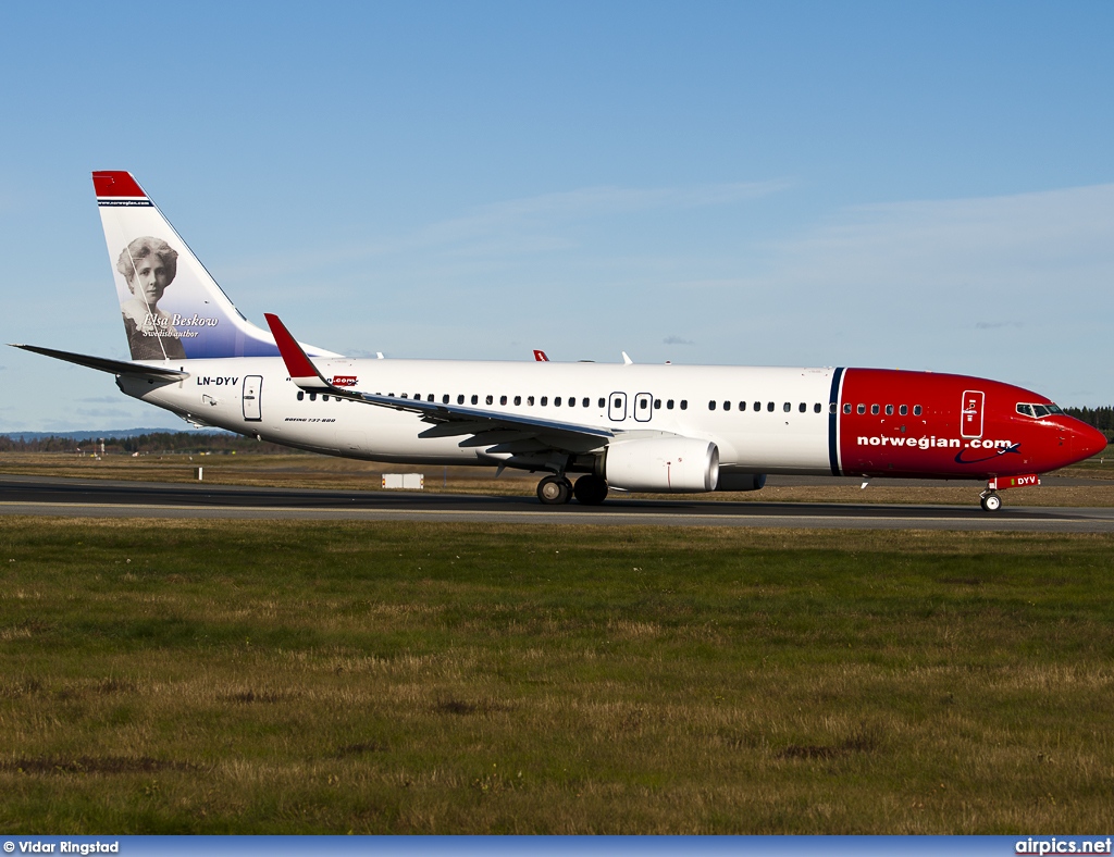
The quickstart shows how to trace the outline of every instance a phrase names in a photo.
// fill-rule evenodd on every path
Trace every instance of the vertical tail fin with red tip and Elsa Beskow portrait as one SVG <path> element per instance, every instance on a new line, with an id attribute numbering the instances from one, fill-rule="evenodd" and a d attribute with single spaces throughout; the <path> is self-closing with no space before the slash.
<path id="1" fill-rule="evenodd" d="M 92 185 L 131 359 L 278 356 L 131 174 L 94 173 Z"/>

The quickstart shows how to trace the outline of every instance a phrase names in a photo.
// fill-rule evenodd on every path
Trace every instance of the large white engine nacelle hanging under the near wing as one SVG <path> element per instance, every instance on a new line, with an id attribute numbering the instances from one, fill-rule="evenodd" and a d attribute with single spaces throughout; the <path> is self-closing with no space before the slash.
<path id="1" fill-rule="evenodd" d="M 626 491 L 715 491 L 720 450 L 693 437 L 619 441 L 607 447 L 603 475 L 609 485 Z"/>

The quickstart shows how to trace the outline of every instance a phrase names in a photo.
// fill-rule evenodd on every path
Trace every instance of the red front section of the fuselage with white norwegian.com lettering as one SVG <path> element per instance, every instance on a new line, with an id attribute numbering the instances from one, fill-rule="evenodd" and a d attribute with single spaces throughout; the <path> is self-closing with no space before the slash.
<path id="1" fill-rule="evenodd" d="M 864 476 L 990 479 L 1045 473 L 1106 444 L 1078 420 L 1066 414 L 1034 418 L 1018 414 L 1018 403 L 1049 400 L 967 375 L 849 368 L 839 408 L 840 470 Z M 859 413 L 860 405 L 866 413 Z"/>

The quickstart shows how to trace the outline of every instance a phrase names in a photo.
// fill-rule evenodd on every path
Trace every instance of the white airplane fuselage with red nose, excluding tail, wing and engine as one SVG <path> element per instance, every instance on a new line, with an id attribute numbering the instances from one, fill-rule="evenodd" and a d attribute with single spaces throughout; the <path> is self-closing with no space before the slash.
<path id="1" fill-rule="evenodd" d="M 354 392 L 596 426 L 616 440 L 706 440 L 719 450 L 721 490 L 742 484 L 734 474 L 981 480 L 1047 472 L 1102 449 L 1088 426 L 1040 414 L 1055 408 L 1046 397 L 962 375 L 346 358 L 317 366 Z M 177 383 L 121 377 L 120 388 L 198 423 L 316 452 L 414 464 L 529 464 L 492 442 L 498 437 L 479 444 L 422 437 L 430 424 L 417 414 L 300 390 L 278 357 L 190 359 L 182 368 L 189 375 Z M 570 453 L 588 455 L 590 447 Z"/>

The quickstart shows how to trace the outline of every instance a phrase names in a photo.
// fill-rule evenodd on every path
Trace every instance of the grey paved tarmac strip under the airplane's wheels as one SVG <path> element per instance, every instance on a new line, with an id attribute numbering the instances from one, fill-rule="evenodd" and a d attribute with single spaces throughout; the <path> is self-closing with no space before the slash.
<path id="1" fill-rule="evenodd" d="M 951 483 L 955 484 L 955 483 Z M 154 482 L 0 476 L 0 514 L 82 518 L 459 521 L 848 530 L 1114 532 L 1114 509 L 726 502 L 608 499 L 600 506 L 544 506 L 532 496 L 321 491 Z"/>

